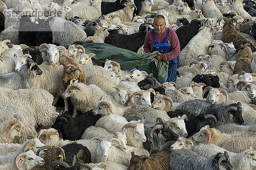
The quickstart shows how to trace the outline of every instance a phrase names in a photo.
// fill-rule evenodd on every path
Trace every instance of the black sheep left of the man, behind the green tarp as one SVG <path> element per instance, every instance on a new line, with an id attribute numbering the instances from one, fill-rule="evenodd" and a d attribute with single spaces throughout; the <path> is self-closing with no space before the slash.
<path id="1" fill-rule="evenodd" d="M 105 38 L 105 43 L 137 53 L 138 49 L 144 45 L 147 32 L 151 30 L 149 25 L 151 24 L 141 24 L 139 32 L 130 35 L 110 34 Z"/>

